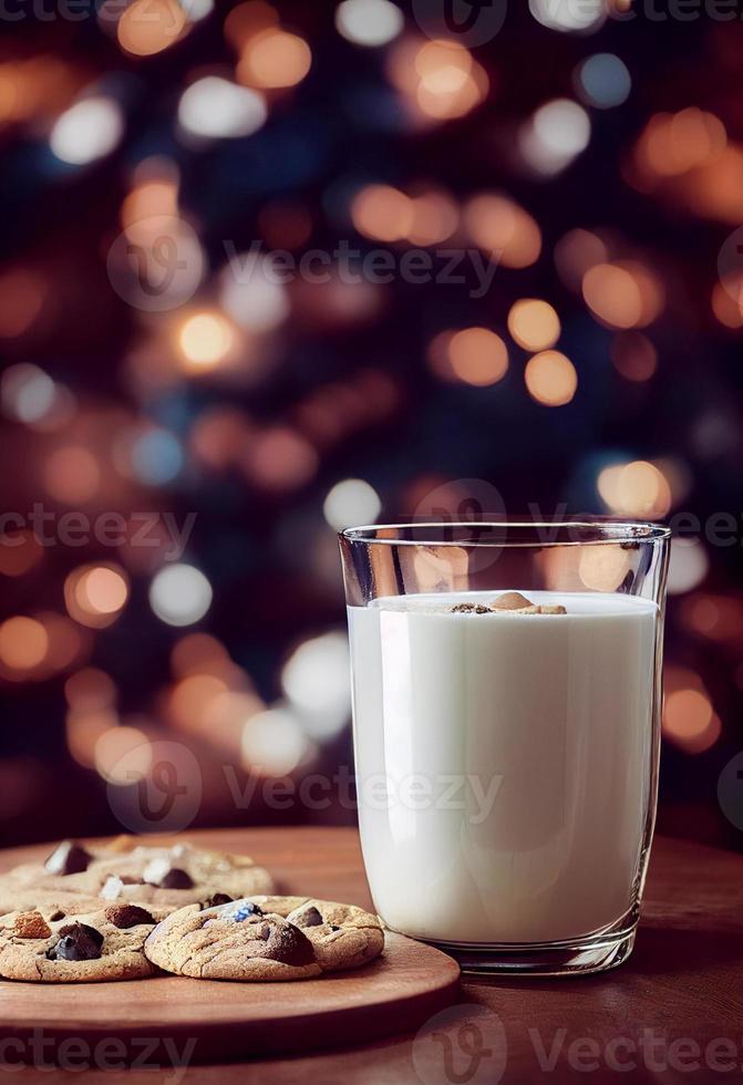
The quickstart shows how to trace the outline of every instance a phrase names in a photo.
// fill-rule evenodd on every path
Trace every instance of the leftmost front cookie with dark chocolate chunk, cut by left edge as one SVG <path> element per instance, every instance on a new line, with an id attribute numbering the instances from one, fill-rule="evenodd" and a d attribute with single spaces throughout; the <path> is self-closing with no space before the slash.
<path id="1" fill-rule="evenodd" d="M 144 942 L 162 909 L 105 905 L 81 897 L 78 907 L 50 900 L 0 918 L 0 975 L 41 983 L 134 980 L 156 971 Z"/>

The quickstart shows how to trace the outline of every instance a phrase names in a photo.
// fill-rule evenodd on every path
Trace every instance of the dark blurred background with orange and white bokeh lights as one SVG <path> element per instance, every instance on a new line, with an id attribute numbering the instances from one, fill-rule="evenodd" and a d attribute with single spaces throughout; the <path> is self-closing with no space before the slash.
<path id="1" fill-rule="evenodd" d="M 351 822 L 334 533 L 507 509 L 674 524 L 660 827 L 740 847 L 743 4 L 0 22 L 4 841 Z"/>

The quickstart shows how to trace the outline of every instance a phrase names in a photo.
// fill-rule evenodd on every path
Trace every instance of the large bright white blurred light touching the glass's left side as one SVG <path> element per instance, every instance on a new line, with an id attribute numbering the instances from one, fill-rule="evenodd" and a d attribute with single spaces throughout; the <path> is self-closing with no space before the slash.
<path id="1" fill-rule="evenodd" d="M 348 638 L 341 632 L 306 640 L 281 671 L 281 685 L 313 738 L 329 738 L 351 713 Z"/>

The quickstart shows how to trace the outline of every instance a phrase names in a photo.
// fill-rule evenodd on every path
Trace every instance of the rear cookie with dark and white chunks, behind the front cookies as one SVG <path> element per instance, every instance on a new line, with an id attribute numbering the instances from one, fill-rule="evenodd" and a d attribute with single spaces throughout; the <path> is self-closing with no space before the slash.
<path id="1" fill-rule="evenodd" d="M 140 845 L 118 837 L 106 847 L 65 840 L 43 864 L 16 867 L 0 877 L 0 909 L 21 890 L 103 896 L 171 910 L 208 902 L 218 893 L 231 899 L 267 892 L 274 882 L 249 856 L 228 855 L 174 844 Z M 11 903 L 11 907 L 17 907 Z"/>

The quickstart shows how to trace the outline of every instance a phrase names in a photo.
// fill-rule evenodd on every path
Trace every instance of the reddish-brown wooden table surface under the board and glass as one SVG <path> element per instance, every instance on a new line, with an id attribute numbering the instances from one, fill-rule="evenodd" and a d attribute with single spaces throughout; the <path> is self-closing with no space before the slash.
<path id="1" fill-rule="evenodd" d="M 187 836 L 204 847 L 236 847 L 235 830 Z M 237 839 L 239 849 L 268 866 L 288 890 L 371 903 L 352 829 L 246 829 Z M 37 854 L 3 852 L 2 866 Z M 122 994 L 125 989 L 122 984 Z M 572 980 L 463 976 L 458 1001 L 417 1034 L 362 1047 L 344 1048 L 343 1036 L 338 1042 L 332 1052 L 230 1068 L 143 1065 L 71 1075 L 29 1067 L 19 1073 L 23 1081 L 73 1076 L 87 1085 L 218 1085 L 233 1075 L 261 1085 L 495 1085 L 534 1083 L 543 1075 L 555 1085 L 741 1082 L 743 857 L 658 837 L 634 953 L 616 971 Z"/>

